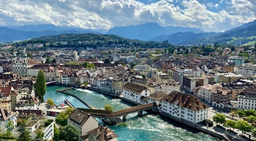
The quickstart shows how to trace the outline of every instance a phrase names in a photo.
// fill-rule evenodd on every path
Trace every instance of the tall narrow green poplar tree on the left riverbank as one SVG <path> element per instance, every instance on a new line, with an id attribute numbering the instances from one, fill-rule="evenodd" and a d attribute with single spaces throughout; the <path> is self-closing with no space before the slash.
<path id="1" fill-rule="evenodd" d="M 38 77 L 35 80 L 35 91 L 38 94 L 40 102 L 44 102 L 43 96 L 46 93 L 45 73 L 43 70 L 38 71 Z"/>

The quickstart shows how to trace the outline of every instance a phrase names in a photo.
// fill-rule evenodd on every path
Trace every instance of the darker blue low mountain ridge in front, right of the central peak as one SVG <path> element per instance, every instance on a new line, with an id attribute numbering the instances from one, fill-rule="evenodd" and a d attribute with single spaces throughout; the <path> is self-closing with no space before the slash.
<path id="1" fill-rule="evenodd" d="M 204 37 L 211 37 L 217 35 L 216 32 L 194 33 L 194 32 L 177 32 L 172 35 L 159 35 L 151 38 L 150 41 L 161 42 L 168 39 L 170 44 L 179 44 L 179 42 L 191 41 L 194 39 L 200 39 Z"/>

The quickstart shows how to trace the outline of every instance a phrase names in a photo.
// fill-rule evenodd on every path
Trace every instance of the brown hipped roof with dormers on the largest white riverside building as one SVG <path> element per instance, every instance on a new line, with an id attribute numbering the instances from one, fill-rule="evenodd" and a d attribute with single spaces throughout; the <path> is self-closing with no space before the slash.
<path id="1" fill-rule="evenodd" d="M 197 97 L 192 94 L 183 94 L 182 92 L 174 91 L 166 97 L 162 98 L 161 101 L 175 104 L 180 107 L 191 109 L 193 111 L 200 111 L 207 109 L 208 106 L 201 102 Z"/>

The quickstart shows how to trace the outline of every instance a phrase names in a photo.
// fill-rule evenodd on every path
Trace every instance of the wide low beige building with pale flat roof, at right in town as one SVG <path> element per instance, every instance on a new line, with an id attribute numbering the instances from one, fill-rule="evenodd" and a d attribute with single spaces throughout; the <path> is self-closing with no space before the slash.
<path id="1" fill-rule="evenodd" d="M 236 75 L 234 73 L 216 73 L 214 77 L 214 81 L 231 83 L 241 78 L 243 78 L 243 75 Z"/>

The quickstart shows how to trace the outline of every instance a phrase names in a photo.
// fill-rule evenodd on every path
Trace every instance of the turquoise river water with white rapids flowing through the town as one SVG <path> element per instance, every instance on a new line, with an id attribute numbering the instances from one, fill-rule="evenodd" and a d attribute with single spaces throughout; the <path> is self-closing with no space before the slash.
<path id="1" fill-rule="evenodd" d="M 47 93 L 45 94 L 45 100 L 51 98 L 55 104 L 61 104 L 65 99 L 67 99 L 75 107 L 87 108 L 87 106 L 84 106 L 84 104 L 79 102 L 76 98 L 56 92 L 56 90 L 62 90 L 65 88 L 67 87 L 59 85 L 48 86 Z M 89 90 L 75 89 L 69 90 L 68 92 L 77 94 L 77 97 L 83 99 L 87 104 L 100 109 L 104 108 L 104 105 L 106 104 L 112 105 L 114 111 L 134 106 L 133 104 L 129 104 L 121 99 L 116 99 Z M 99 123 L 102 123 L 100 119 L 98 119 L 98 121 Z M 218 140 L 215 137 L 199 133 L 199 131 L 196 131 L 193 128 L 189 128 L 188 126 L 159 115 L 147 115 L 138 118 L 137 114 L 129 114 L 126 123 L 111 125 L 109 127 L 119 135 L 119 141 Z"/>

